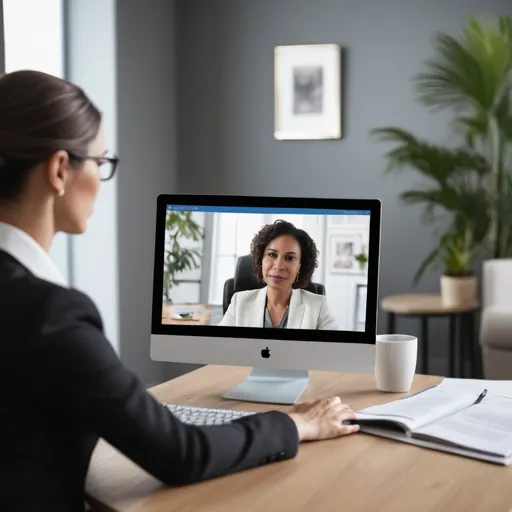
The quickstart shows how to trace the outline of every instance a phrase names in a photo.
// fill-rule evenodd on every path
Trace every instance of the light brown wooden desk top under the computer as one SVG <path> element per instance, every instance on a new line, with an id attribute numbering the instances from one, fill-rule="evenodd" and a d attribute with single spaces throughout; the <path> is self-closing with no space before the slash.
<path id="1" fill-rule="evenodd" d="M 152 392 L 174 403 L 268 410 L 220 398 L 248 373 L 248 368 L 208 366 Z M 417 375 L 411 392 L 439 381 Z M 354 409 L 402 396 L 376 391 L 372 375 L 313 372 L 303 398 L 331 395 Z M 506 512 L 512 507 L 512 467 L 358 433 L 304 443 L 290 461 L 169 488 L 103 442 L 93 454 L 87 490 L 97 510 L 127 512 Z"/>

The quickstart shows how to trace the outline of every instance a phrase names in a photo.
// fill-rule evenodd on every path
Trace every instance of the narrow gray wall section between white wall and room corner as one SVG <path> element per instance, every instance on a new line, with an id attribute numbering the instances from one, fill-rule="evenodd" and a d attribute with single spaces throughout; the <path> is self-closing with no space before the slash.
<path id="1" fill-rule="evenodd" d="M 175 2 L 117 2 L 120 355 L 147 384 L 188 365 L 149 357 L 156 198 L 176 192 Z"/>

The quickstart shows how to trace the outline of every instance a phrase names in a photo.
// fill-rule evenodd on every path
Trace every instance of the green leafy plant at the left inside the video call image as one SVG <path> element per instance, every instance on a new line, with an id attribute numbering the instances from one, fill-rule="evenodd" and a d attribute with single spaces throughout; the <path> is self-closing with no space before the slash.
<path id="1" fill-rule="evenodd" d="M 171 303 L 170 291 L 179 283 L 177 277 L 187 270 L 199 268 L 202 253 L 199 248 L 184 243 L 187 240 L 201 242 L 203 228 L 193 219 L 191 211 L 167 212 L 165 219 L 165 257 L 164 257 L 164 298 Z"/>

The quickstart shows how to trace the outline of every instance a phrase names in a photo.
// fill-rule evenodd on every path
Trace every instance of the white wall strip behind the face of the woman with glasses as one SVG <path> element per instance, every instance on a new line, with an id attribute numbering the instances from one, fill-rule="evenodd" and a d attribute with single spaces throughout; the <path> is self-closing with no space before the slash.
<path id="1" fill-rule="evenodd" d="M 116 2 L 67 0 L 65 5 L 67 78 L 83 87 L 103 112 L 107 145 L 116 153 Z M 97 304 L 106 334 L 119 351 L 117 225 L 115 177 L 102 184 L 87 233 L 71 239 L 70 273 L 72 284 Z"/>

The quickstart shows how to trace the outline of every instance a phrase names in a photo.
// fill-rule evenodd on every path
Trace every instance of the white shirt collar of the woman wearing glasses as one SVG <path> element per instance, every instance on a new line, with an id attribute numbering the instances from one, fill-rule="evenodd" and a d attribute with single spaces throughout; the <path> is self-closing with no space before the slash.
<path id="1" fill-rule="evenodd" d="M 50 255 L 25 231 L 0 222 L 0 249 L 10 254 L 40 279 L 67 287 Z"/>

